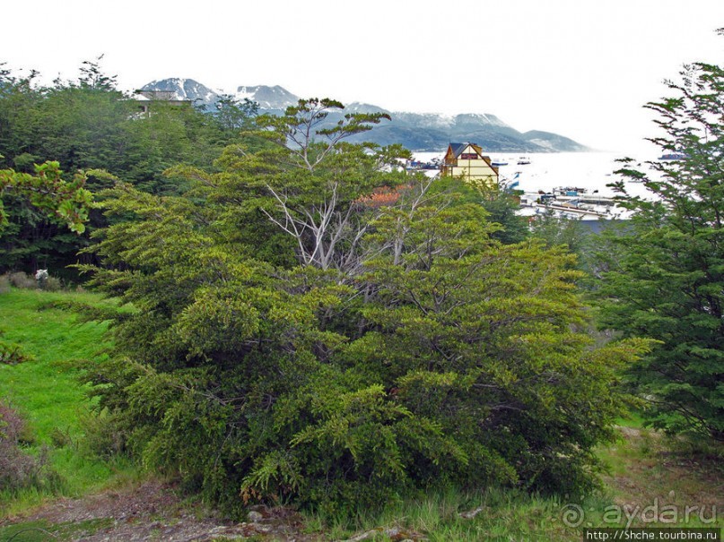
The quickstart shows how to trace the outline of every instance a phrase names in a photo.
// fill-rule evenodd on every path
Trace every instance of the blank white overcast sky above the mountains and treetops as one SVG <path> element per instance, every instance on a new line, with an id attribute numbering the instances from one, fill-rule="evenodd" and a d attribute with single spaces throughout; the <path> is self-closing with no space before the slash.
<path id="1" fill-rule="evenodd" d="M 520 131 L 629 152 L 642 105 L 683 64 L 724 64 L 724 0 L 24 0 L 3 3 L 0 62 L 51 81 L 104 54 L 122 90 L 187 77 L 231 92 L 393 111 L 492 113 Z"/>

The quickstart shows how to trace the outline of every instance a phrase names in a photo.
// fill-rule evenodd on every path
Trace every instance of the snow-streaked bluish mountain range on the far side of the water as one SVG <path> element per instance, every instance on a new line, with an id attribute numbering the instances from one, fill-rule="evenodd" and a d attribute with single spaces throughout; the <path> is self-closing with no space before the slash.
<path id="1" fill-rule="evenodd" d="M 222 96 L 193 79 L 163 79 L 144 85 L 142 90 L 172 91 L 178 99 L 190 99 L 196 105 L 213 108 Z M 256 101 L 262 113 L 281 113 L 296 105 L 298 96 L 280 86 L 240 86 L 231 94 L 236 99 Z M 437 113 L 392 112 L 371 104 L 353 102 L 343 113 L 332 113 L 327 123 L 336 123 L 346 113 L 384 112 L 392 122 L 383 122 L 370 132 L 357 134 L 351 141 L 389 145 L 401 143 L 412 151 L 442 151 L 449 142 L 475 142 L 489 152 L 564 152 L 589 151 L 585 145 L 557 133 L 532 130 L 521 133 L 491 114 L 463 113 L 454 116 Z"/>

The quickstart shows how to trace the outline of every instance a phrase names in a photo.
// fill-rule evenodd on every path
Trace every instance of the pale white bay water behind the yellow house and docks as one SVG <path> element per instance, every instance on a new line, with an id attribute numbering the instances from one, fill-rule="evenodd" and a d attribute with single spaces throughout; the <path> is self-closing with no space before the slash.
<path id="1" fill-rule="evenodd" d="M 444 151 L 441 152 L 416 152 L 415 159 L 429 161 L 433 158 L 442 159 Z M 525 192 L 550 192 L 559 186 L 571 186 L 585 188 L 587 192 L 593 193 L 598 190 L 602 196 L 613 196 L 614 191 L 608 184 L 622 177 L 615 175 L 614 171 L 621 168 L 621 164 L 615 159 L 623 158 L 624 155 L 611 152 L 551 152 L 531 153 L 525 157 L 530 159 L 528 165 L 518 165 L 522 154 L 495 154 L 493 160 L 502 159 L 507 161 L 507 166 L 499 168 L 502 179 L 512 179 L 517 172 L 519 190 Z M 646 164 L 641 168 L 646 170 Z M 646 189 L 641 183 L 626 182 L 627 190 L 632 195 L 645 196 Z"/>

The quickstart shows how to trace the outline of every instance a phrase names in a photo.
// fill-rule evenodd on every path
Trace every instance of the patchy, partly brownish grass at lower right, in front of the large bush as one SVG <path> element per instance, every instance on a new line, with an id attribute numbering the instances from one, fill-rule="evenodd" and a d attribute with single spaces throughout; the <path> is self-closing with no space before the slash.
<path id="1" fill-rule="evenodd" d="M 510 489 L 450 490 L 406 500 L 379 514 L 361 512 L 353 520 L 308 513 L 308 532 L 334 540 L 377 530 L 374 539 L 389 540 L 386 529 L 397 527 L 431 541 L 573 542 L 587 527 L 724 527 L 724 467 L 722 455 L 715 453 L 721 453 L 720 447 L 682 453 L 680 441 L 641 428 L 639 420 L 622 421 L 631 425 L 621 426 L 616 442 L 598 450 L 607 471 L 603 491 L 583 502 Z M 460 516 L 469 511 L 479 512 L 472 519 Z"/>

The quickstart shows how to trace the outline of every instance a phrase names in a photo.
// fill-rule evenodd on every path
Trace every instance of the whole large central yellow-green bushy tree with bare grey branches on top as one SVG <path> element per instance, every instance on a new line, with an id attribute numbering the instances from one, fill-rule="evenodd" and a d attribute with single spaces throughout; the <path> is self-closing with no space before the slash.
<path id="1" fill-rule="evenodd" d="M 338 108 L 262 116 L 220 171 L 175 171 L 185 194 L 103 194 L 125 219 L 83 269 L 136 312 L 89 375 L 127 449 L 231 507 L 589 488 L 645 344 L 595 348 L 570 254 L 344 141 L 382 115 L 318 130 Z"/>

